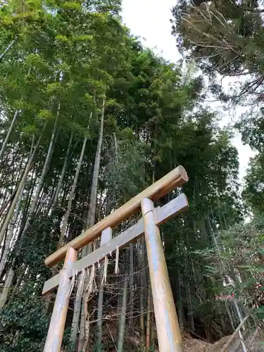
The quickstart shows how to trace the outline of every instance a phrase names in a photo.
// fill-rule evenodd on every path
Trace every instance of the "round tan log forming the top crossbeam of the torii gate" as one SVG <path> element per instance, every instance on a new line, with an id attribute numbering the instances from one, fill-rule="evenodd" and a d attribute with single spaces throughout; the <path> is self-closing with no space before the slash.
<path id="1" fill-rule="evenodd" d="M 127 219 L 130 215 L 136 213 L 140 210 L 140 204 L 142 199 L 149 198 L 154 200 L 160 199 L 162 196 L 165 196 L 169 191 L 175 189 L 175 187 L 180 187 L 182 184 L 188 181 L 187 172 L 182 166 L 178 166 L 167 175 L 165 175 L 161 180 L 158 180 L 154 184 L 151 184 L 150 187 L 144 189 L 141 193 L 134 196 L 127 203 L 121 206 L 118 210 L 115 210 L 113 213 L 108 215 L 103 220 L 99 221 L 96 225 L 92 226 L 88 230 L 84 231 L 80 236 L 70 241 L 65 246 L 58 249 L 58 251 L 51 254 L 45 260 L 45 264 L 49 267 L 55 265 L 60 260 L 65 257 L 65 253 L 69 247 L 74 249 L 81 249 L 82 247 L 89 244 L 91 241 L 100 236 L 101 232 L 107 227 L 115 227 L 122 220 Z"/>

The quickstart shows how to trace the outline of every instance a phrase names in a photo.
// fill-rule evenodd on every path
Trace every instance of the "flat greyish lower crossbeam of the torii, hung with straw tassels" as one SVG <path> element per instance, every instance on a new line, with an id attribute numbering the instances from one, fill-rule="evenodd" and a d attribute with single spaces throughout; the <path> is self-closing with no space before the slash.
<path id="1" fill-rule="evenodd" d="M 172 218 L 182 211 L 188 208 L 188 201 L 185 194 L 181 194 L 175 199 L 172 199 L 163 207 L 156 208 L 156 224 L 162 224 L 166 220 Z M 115 251 L 116 247 L 122 248 L 126 244 L 129 244 L 132 241 L 135 241 L 137 237 L 141 236 L 144 233 L 143 220 L 140 219 L 137 224 L 133 225 L 124 232 L 118 234 L 118 236 L 108 241 L 106 244 L 103 244 L 99 249 L 96 249 L 94 252 L 88 254 L 84 258 L 78 260 L 73 264 L 73 270 L 75 272 L 81 272 L 82 268 L 88 268 L 90 265 L 98 262 L 105 256 L 108 256 L 111 252 Z M 51 277 L 44 284 L 42 294 L 48 294 L 52 289 L 58 286 L 59 275 Z M 73 274 L 72 274 L 73 275 Z M 71 276 L 72 276 L 71 275 Z"/>

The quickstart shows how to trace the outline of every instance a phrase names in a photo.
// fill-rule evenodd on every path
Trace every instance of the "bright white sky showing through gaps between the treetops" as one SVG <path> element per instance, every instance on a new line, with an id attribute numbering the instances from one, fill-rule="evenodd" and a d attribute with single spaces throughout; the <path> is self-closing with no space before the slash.
<path id="1" fill-rule="evenodd" d="M 132 34 L 142 37 L 144 46 L 154 49 L 172 63 L 180 58 L 176 49 L 175 37 L 170 34 L 170 18 L 172 18 L 170 10 L 176 2 L 177 0 L 122 0 L 123 22 L 130 28 Z M 228 115 L 227 112 L 222 111 L 220 103 L 212 104 L 211 108 L 220 111 L 221 125 L 234 121 L 239 113 L 243 113 L 243 110 L 239 109 L 232 116 Z M 239 152 L 239 177 L 242 181 L 249 158 L 254 155 L 254 152 L 249 145 L 242 144 L 239 134 L 234 137 L 233 143 Z"/>

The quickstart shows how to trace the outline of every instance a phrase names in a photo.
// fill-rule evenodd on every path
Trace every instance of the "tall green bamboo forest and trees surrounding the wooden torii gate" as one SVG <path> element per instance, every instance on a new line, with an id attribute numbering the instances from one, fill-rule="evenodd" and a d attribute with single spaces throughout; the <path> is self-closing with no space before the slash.
<path id="1" fill-rule="evenodd" d="M 168 10 L 173 63 L 121 0 L 0 0 L 0 352 L 264 351 L 264 1 Z M 142 235 L 72 274 L 61 348 L 44 349 L 64 258 L 45 259 L 180 165 L 188 182 L 153 200 L 189 203 L 159 226 L 181 347 L 158 344 Z"/>

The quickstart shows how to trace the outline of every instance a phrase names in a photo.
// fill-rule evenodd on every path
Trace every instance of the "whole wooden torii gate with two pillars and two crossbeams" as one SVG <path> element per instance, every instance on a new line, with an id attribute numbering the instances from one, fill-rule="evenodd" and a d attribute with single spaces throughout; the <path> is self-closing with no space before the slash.
<path id="1" fill-rule="evenodd" d="M 52 267 L 63 260 L 63 258 L 65 258 L 65 260 L 61 272 L 47 280 L 44 283 L 42 291 L 42 294 L 45 295 L 52 289 L 58 287 L 44 352 L 61 351 L 61 342 L 70 298 L 70 278 L 73 277 L 74 273 L 81 272 L 83 269 L 88 268 L 115 251 L 117 247 L 121 248 L 135 241 L 135 239 L 142 234 L 145 234 L 146 240 L 159 351 L 182 352 L 180 327 L 177 320 L 158 225 L 169 220 L 177 213 L 186 210 L 188 208 L 188 201 L 184 194 L 172 199 L 172 201 L 165 204 L 163 207 L 154 208 L 153 201 L 160 199 L 162 196 L 165 196 L 165 194 L 168 194 L 168 192 L 176 187 L 182 186 L 182 184 L 187 181 L 187 172 L 182 166 L 178 166 L 163 178 L 151 184 L 150 187 L 146 188 L 140 194 L 130 199 L 125 205 L 118 208 L 118 210 L 115 210 L 96 225 L 90 227 L 80 234 L 80 236 L 73 239 L 73 241 L 70 241 L 46 258 L 45 264 L 48 267 Z M 101 243 L 99 249 L 77 260 L 78 250 L 101 236 L 102 233 L 111 233 L 113 227 L 139 210 L 142 210 L 142 219 L 135 225 L 118 234 L 118 236 L 113 239 L 108 237 L 109 240 L 105 243 Z"/>

